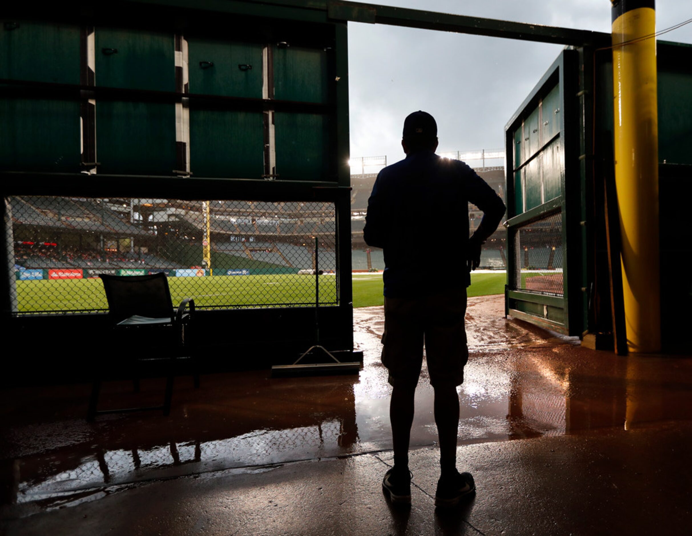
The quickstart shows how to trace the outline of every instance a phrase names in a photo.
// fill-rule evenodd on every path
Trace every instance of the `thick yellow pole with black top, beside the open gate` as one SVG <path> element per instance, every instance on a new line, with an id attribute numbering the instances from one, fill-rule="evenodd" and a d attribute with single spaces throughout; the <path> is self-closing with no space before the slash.
<path id="1" fill-rule="evenodd" d="M 630 352 L 661 350 L 654 0 L 611 0 L 614 156 Z"/>

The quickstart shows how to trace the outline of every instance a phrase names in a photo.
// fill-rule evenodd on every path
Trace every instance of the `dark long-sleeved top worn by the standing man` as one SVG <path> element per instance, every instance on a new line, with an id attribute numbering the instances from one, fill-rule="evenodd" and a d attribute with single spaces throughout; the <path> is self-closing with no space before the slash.
<path id="1" fill-rule="evenodd" d="M 408 154 L 379 172 L 367 202 L 365 242 L 384 250 L 388 298 L 468 287 L 468 203 L 483 211 L 473 239 L 497 229 L 502 199 L 462 161 L 432 151 Z"/>

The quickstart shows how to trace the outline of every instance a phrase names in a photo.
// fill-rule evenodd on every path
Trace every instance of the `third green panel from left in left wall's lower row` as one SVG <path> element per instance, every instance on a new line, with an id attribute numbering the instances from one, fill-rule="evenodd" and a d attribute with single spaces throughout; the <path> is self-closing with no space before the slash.
<path id="1" fill-rule="evenodd" d="M 263 115 L 250 111 L 190 110 L 192 177 L 261 179 Z"/>

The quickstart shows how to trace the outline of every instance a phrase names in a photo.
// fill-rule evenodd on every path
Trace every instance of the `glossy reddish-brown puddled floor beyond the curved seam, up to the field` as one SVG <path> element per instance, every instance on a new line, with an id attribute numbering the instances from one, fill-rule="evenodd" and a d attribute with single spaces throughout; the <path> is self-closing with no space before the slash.
<path id="1" fill-rule="evenodd" d="M 502 296 L 469 299 L 460 444 L 690 418 L 691 360 L 594 352 L 507 321 L 502 310 Z M 3 391 L 2 502 L 57 508 L 142 481 L 391 449 L 382 329 L 381 307 L 355 311 L 365 353 L 358 377 L 270 379 L 260 370 L 206 376 L 199 390 L 181 378 L 170 418 L 139 413 L 89 424 L 89 386 Z M 162 387 L 143 382 L 136 396 L 160 396 Z M 104 388 L 104 403 L 127 404 L 129 388 Z M 424 367 L 412 447 L 437 441 L 432 394 Z"/>

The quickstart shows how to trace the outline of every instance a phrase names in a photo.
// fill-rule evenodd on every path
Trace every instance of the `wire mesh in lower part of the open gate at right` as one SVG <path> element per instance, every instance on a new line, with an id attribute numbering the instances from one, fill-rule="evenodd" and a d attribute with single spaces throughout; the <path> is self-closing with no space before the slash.
<path id="1" fill-rule="evenodd" d="M 562 213 L 517 229 L 521 290 L 563 295 Z"/>

